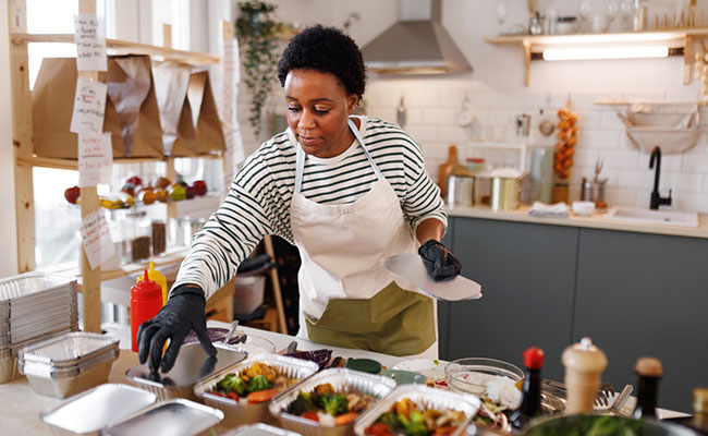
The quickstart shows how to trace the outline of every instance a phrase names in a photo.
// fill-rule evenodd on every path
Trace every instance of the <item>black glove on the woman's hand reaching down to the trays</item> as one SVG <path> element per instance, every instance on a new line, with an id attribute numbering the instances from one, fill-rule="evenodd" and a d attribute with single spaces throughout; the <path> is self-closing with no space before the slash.
<path id="1" fill-rule="evenodd" d="M 204 351 L 209 355 L 216 355 L 217 349 L 211 344 L 207 334 L 205 305 L 206 300 L 200 289 L 191 286 L 174 288 L 164 307 L 137 329 L 141 364 L 148 360 L 149 353 L 150 372 L 157 373 L 159 368 L 162 373 L 167 373 L 174 365 L 180 347 L 192 330 L 197 334 Z M 170 346 L 162 355 L 162 349 L 168 339 L 170 339 Z"/>

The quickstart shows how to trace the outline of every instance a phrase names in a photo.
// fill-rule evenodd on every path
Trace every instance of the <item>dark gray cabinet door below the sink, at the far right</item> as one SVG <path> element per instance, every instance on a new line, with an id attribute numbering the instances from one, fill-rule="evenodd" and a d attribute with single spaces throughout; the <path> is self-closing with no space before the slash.
<path id="1" fill-rule="evenodd" d="M 603 378 L 635 384 L 642 355 L 659 358 L 659 405 L 691 411 L 708 386 L 708 240 L 581 229 L 573 340 L 609 360 Z"/>

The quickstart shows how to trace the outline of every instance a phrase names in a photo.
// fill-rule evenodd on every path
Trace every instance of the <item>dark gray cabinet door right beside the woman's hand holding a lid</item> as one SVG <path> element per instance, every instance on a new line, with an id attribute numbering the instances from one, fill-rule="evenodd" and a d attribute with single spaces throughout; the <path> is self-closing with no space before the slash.
<path id="1" fill-rule="evenodd" d="M 544 375 L 562 379 L 560 354 L 571 340 L 578 229 L 452 221 L 452 250 L 463 275 L 481 284 L 483 298 L 447 303 L 441 358 L 493 358 L 523 368 L 524 349 L 538 346 L 547 356 Z"/>

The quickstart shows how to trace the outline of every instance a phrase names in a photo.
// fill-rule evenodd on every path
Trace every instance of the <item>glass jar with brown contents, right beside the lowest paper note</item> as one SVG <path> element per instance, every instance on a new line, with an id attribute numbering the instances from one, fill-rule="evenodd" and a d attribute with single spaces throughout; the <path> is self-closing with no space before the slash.
<path id="1" fill-rule="evenodd" d="M 121 209 L 117 213 L 123 247 L 123 263 L 149 259 L 152 245 L 152 221 L 145 209 Z"/>

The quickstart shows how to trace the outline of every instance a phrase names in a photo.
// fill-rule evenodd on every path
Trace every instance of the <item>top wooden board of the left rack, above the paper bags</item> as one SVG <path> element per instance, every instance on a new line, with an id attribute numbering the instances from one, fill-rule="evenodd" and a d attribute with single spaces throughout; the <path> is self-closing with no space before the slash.
<path id="1" fill-rule="evenodd" d="M 74 34 L 23 34 L 13 33 L 10 41 L 15 45 L 27 43 L 70 43 L 74 44 Z M 182 60 L 191 63 L 219 63 L 219 58 L 198 51 L 175 50 L 147 44 L 106 38 L 106 47 L 115 52 L 161 56 L 166 59 Z"/>

